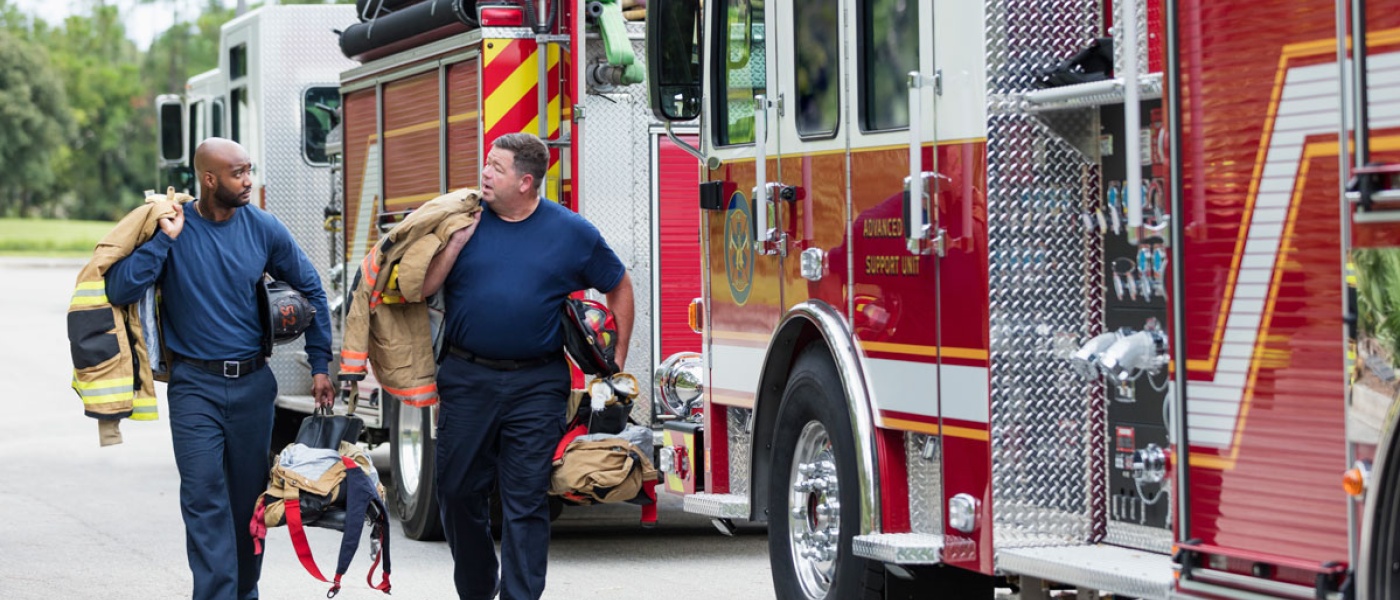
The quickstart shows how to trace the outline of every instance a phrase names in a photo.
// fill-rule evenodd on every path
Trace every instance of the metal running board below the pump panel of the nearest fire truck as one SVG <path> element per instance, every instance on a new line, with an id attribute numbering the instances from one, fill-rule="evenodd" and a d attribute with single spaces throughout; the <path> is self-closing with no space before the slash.
<path id="1" fill-rule="evenodd" d="M 1166 600 L 1175 582 L 1170 557 L 1103 544 L 998 550 L 997 569 L 1145 600 Z"/>

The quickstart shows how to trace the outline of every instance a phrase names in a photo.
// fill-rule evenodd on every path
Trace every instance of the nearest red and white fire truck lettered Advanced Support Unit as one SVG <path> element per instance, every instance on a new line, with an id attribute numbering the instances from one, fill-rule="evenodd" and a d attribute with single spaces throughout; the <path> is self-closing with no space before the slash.
<path id="1" fill-rule="evenodd" d="M 780 599 L 1400 597 L 1371 8 L 651 0 L 703 161 L 666 488 Z"/>

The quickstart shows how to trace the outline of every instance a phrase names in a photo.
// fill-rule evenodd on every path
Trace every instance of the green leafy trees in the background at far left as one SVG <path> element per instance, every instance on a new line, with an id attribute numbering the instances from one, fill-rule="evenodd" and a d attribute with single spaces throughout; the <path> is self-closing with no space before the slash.
<path id="1" fill-rule="evenodd" d="M 0 217 L 116 220 L 155 186 L 160 94 L 218 66 L 218 28 L 239 10 L 140 0 L 175 13 L 141 50 L 120 6 L 90 0 L 46 22 L 0 0 Z M 322 4 L 330 0 L 281 0 Z M 353 3 L 353 0 L 340 0 Z"/>

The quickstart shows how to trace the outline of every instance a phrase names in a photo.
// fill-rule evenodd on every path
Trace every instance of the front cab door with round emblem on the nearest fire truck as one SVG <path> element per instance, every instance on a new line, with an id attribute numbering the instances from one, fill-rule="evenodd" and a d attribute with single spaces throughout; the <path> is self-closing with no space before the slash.
<path id="1" fill-rule="evenodd" d="M 764 4 L 767 8 L 764 8 Z M 711 401 L 752 408 L 759 371 L 783 315 L 778 245 L 760 241 L 780 231 L 769 203 L 756 200 L 762 182 L 777 182 L 778 133 L 773 3 L 727 0 L 708 13 L 724 32 L 711 49 L 706 98 L 715 116 L 707 131 L 711 159 L 704 172 L 714 210 L 703 215 L 708 245 Z M 713 411 L 711 411 L 713 413 Z M 724 413 L 720 413 L 721 415 Z M 724 422 L 722 417 L 718 422 Z M 715 490 L 715 487 L 711 487 Z M 720 490 L 722 491 L 722 485 Z"/>

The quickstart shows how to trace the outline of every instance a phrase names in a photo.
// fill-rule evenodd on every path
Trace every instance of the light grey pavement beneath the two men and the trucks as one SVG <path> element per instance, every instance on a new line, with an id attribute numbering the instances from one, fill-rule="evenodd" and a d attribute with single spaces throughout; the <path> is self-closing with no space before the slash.
<path id="1" fill-rule="evenodd" d="M 189 597 L 179 476 L 164 386 L 161 420 L 122 424 L 125 442 L 98 446 L 97 424 L 69 387 L 66 313 L 83 262 L 0 259 L 0 599 Z M 388 448 L 371 452 L 384 469 Z M 662 497 L 659 524 L 638 526 L 630 505 L 567 508 L 554 523 L 545 599 L 652 600 L 774 597 L 767 534 L 735 537 Z M 323 572 L 335 571 L 339 531 L 309 529 Z M 392 530 L 396 599 L 451 599 L 445 543 Z M 364 583 L 367 554 L 350 565 L 337 599 L 381 599 Z M 263 599 L 322 599 L 284 529 L 269 533 Z"/>

